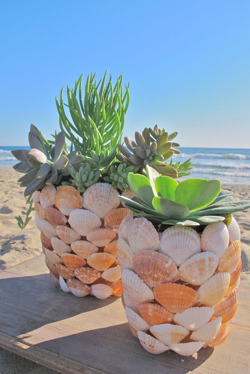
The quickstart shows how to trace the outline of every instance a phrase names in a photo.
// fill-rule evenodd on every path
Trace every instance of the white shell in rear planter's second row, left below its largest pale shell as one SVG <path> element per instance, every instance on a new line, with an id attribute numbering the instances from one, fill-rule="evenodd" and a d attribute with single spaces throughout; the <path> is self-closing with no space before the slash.
<path id="1" fill-rule="evenodd" d="M 70 212 L 68 223 L 81 236 L 86 236 L 91 230 L 101 226 L 98 215 L 85 209 L 74 209 Z"/>

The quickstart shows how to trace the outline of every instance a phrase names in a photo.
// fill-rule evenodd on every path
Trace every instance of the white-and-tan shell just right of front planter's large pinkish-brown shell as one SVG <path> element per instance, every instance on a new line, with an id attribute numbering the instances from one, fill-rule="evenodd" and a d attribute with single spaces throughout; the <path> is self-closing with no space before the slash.
<path id="1" fill-rule="evenodd" d="M 218 264 L 219 257 L 214 252 L 197 253 L 179 267 L 180 279 L 193 285 L 201 285 L 211 278 Z"/>

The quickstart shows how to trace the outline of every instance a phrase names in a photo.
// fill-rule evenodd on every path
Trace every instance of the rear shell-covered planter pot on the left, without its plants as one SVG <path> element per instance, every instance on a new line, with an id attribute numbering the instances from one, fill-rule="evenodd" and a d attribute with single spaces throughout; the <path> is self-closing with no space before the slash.
<path id="1" fill-rule="evenodd" d="M 117 259 L 118 230 L 129 209 L 109 183 L 96 183 L 82 194 L 74 187 L 45 186 L 33 193 L 35 221 L 41 232 L 52 281 L 75 296 L 121 296 Z"/>

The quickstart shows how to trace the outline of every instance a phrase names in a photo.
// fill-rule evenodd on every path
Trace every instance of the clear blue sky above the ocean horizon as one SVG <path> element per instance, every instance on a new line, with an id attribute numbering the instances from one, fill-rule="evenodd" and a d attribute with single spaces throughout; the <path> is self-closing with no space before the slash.
<path id="1" fill-rule="evenodd" d="M 130 81 L 124 135 L 156 123 L 183 147 L 249 148 L 249 1 L 8 1 L 0 145 L 58 129 L 55 95 L 106 68 Z"/>

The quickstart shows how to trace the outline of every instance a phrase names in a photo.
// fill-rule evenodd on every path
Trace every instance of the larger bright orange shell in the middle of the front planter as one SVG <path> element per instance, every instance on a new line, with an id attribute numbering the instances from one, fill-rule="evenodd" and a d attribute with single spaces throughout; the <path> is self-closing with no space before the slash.
<path id="1" fill-rule="evenodd" d="M 172 313 L 180 313 L 199 301 L 192 288 L 177 283 L 164 283 L 153 289 L 155 300 Z"/>

